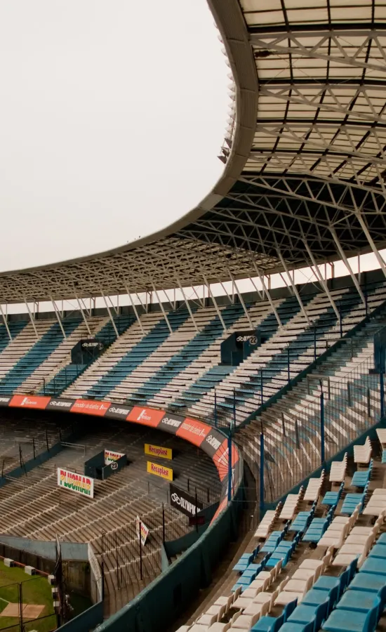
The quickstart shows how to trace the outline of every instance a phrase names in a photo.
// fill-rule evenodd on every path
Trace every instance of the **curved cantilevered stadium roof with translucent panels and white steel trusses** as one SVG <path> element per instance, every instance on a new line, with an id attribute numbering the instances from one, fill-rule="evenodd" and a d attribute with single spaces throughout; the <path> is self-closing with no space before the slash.
<path id="1" fill-rule="evenodd" d="M 145 239 L 0 275 L 2 300 L 169 289 L 386 246 L 386 2 L 210 4 L 235 98 L 213 191 Z"/>

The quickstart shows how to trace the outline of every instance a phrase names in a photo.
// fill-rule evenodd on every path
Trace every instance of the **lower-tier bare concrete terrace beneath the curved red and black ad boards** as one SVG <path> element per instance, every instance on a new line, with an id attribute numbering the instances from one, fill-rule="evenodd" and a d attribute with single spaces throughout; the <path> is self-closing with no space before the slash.
<path id="1" fill-rule="evenodd" d="M 41 427 L 38 424 L 36 430 L 32 430 L 31 421 L 8 420 L 8 426 L 10 443 L 13 432 L 16 437 L 20 433 L 26 437 L 28 427 L 29 434 L 34 433 L 36 442 L 39 437 L 42 443 L 45 441 L 46 421 L 41 423 Z M 52 421 L 51 445 L 54 430 L 55 421 Z M 149 457 L 144 454 L 145 442 L 173 448 L 173 461 L 167 464 L 173 468 L 176 485 L 190 489 L 193 494 L 197 487 L 201 498 L 206 498 L 208 493 L 207 504 L 218 499 L 221 484 L 211 459 L 173 435 L 127 423 L 110 421 L 106 426 L 98 424 L 95 419 L 91 421 L 89 430 L 87 422 L 81 430 L 83 435 L 76 445 L 65 447 L 27 476 L 9 478 L 7 484 L 0 487 L 0 534 L 39 540 L 52 540 L 58 535 L 65 541 L 90 542 L 99 559 L 103 546 L 106 612 L 112 614 L 161 572 L 162 503 L 166 539 L 178 538 L 191 529 L 188 519 L 168 503 L 168 481 L 147 475 L 146 461 Z M 58 441 L 58 428 L 56 433 Z M 0 445 L 7 445 L 1 435 Z M 95 480 L 93 499 L 58 487 L 58 467 L 83 473 L 84 461 L 105 448 L 127 454 L 128 467 L 107 480 Z M 137 515 L 141 515 L 149 527 L 149 539 L 142 551 L 142 579 Z"/>

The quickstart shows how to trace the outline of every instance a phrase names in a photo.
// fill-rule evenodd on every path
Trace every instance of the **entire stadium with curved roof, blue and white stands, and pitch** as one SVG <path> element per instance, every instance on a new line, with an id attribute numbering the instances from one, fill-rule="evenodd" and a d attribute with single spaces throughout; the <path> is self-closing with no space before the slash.
<path id="1" fill-rule="evenodd" d="M 208 4 L 220 180 L 0 273 L 0 631 L 386 629 L 386 5 Z"/>

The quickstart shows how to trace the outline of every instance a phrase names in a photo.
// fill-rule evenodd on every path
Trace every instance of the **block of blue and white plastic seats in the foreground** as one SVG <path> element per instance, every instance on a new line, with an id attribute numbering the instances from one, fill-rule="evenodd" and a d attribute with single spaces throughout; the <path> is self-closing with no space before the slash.
<path id="1" fill-rule="evenodd" d="M 350 453 L 342 485 L 326 472 L 309 482 L 316 499 L 305 500 L 300 491 L 267 511 L 244 552 L 178 632 L 384 630 L 386 466 L 382 445 L 371 452 L 369 466 L 359 469 Z M 363 503 L 352 511 L 352 496 L 364 489 Z M 328 494 L 338 491 L 331 503 Z M 287 501 L 295 505 L 289 519 Z"/>

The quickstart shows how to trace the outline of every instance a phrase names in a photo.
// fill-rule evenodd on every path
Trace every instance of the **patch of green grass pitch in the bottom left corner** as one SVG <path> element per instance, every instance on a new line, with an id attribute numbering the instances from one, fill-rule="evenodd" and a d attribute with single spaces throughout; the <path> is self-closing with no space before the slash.
<path id="1" fill-rule="evenodd" d="M 49 632 L 56 627 L 56 617 L 53 610 L 53 598 L 51 586 L 46 577 L 34 576 L 32 578 L 25 574 L 24 569 L 18 567 L 8 568 L 0 560 L 0 613 L 6 608 L 8 603 L 19 603 L 19 586 L 22 583 L 22 603 L 37 604 L 44 606 L 44 610 L 39 614 L 40 621 L 25 619 L 25 631 L 36 630 L 37 632 Z M 52 615 L 48 617 L 47 615 Z M 0 630 L 5 628 L 9 632 L 18 632 L 18 617 L 1 617 Z"/>

